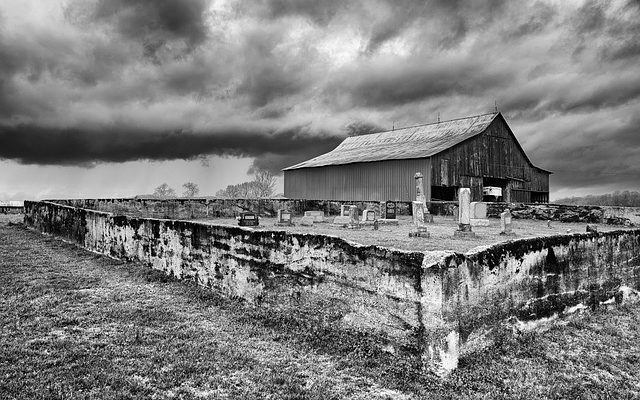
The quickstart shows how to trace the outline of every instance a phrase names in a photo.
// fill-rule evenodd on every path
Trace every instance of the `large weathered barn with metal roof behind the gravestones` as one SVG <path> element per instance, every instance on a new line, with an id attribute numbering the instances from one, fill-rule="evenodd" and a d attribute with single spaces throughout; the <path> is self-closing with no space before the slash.
<path id="1" fill-rule="evenodd" d="M 283 171 L 285 197 L 345 201 L 412 201 L 421 172 L 427 199 L 468 187 L 481 201 L 483 188 L 499 187 L 504 201 L 548 202 L 551 173 L 531 163 L 500 113 L 349 137 Z"/>

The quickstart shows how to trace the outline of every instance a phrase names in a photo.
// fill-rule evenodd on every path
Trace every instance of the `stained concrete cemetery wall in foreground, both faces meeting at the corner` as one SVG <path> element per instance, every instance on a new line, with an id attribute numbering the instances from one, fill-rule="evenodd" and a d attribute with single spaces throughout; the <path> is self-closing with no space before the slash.
<path id="1" fill-rule="evenodd" d="M 333 236 L 117 216 L 25 202 L 25 223 L 256 304 L 331 314 L 338 327 L 411 346 L 451 369 L 461 346 L 510 315 L 535 319 L 640 289 L 640 230 L 521 239 L 467 254 L 362 246 Z"/>

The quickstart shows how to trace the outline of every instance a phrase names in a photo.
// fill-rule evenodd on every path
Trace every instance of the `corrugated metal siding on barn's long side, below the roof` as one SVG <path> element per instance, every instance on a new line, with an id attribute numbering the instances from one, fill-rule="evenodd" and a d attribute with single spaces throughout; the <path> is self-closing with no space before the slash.
<path id="1" fill-rule="evenodd" d="M 416 172 L 424 175 L 431 198 L 431 160 L 387 160 L 284 171 L 284 195 L 290 199 L 412 201 Z"/>

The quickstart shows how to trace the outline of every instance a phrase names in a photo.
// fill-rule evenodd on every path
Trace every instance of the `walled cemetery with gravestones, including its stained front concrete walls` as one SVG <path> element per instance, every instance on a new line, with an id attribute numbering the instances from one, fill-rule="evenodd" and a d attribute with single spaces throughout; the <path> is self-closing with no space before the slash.
<path id="1" fill-rule="evenodd" d="M 276 217 L 155 219 L 25 202 L 25 223 L 89 250 L 286 310 L 333 304 L 334 324 L 418 349 L 424 368 L 454 369 L 469 337 L 515 316 L 535 320 L 640 288 L 640 229 L 517 220 L 459 191 L 457 213 L 411 215 L 394 202 L 343 204 Z"/>

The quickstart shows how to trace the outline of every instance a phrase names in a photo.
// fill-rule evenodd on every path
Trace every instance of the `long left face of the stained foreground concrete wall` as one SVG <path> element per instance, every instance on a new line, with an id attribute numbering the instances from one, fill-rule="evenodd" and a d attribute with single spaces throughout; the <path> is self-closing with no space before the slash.
<path id="1" fill-rule="evenodd" d="M 380 331 L 397 343 L 415 341 L 424 331 L 423 253 L 333 236 L 116 216 L 48 202 L 27 202 L 25 210 L 25 222 L 42 232 L 141 261 L 228 296 L 282 307 L 312 307 L 329 299 L 339 324 Z"/>

